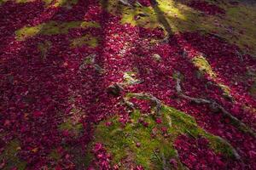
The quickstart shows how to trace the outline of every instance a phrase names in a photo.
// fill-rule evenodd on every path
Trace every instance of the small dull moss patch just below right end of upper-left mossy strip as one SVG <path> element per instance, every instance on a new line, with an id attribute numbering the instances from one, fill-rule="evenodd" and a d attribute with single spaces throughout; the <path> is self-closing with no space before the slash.
<path id="1" fill-rule="evenodd" d="M 81 47 L 83 45 L 88 45 L 92 48 L 96 48 L 96 46 L 98 45 L 98 40 L 96 37 L 92 37 L 89 34 L 72 40 L 72 47 Z"/>

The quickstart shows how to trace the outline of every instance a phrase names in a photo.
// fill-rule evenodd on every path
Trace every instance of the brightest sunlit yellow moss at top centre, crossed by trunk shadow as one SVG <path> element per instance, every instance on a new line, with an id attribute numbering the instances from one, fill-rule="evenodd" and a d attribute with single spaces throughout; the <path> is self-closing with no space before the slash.
<path id="1" fill-rule="evenodd" d="M 160 23 L 160 17 L 166 18 L 172 29 L 177 30 L 179 21 L 186 20 L 186 11 L 189 9 L 185 5 L 173 1 L 160 0 L 158 1 L 158 9 L 153 7 L 144 7 L 136 3 L 134 6 L 129 7 L 120 4 L 118 1 L 109 1 L 108 11 L 113 14 L 121 14 L 121 23 L 129 23 L 132 26 L 143 26 L 146 28 L 154 29 L 156 27 L 163 27 Z M 160 16 L 159 12 L 163 15 Z M 178 21 L 177 21 L 178 20 Z"/>

